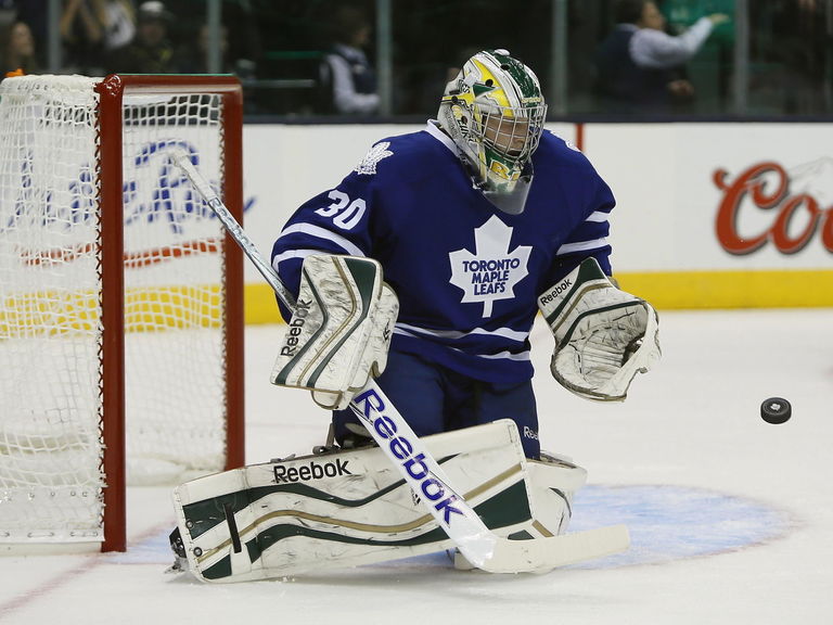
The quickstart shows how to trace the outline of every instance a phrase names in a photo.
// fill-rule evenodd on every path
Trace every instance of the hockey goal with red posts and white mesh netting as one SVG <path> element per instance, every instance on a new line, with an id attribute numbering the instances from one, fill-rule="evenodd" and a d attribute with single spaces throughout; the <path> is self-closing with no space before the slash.
<path id="1" fill-rule="evenodd" d="M 0 84 L 0 546 L 126 546 L 125 484 L 243 463 L 239 82 Z"/>

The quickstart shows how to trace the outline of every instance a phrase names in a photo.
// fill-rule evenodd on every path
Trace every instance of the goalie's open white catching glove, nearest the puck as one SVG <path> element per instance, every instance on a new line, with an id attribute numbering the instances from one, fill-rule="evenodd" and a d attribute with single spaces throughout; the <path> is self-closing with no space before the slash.
<path id="1" fill-rule="evenodd" d="M 552 375 L 576 395 L 621 401 L 661 357 L 656 310 L 616 289 L 595 258 L 541 294 L 538 307 L 555 336 Z"/>

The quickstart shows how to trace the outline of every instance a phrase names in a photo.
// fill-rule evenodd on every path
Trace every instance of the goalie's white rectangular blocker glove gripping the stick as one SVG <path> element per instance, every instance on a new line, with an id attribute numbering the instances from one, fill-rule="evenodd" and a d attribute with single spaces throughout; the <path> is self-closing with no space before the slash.
<path id="1" fill-rule="evenodd" d="M 384 371 L 398 312 L 376 260 L 307 256 L 272 384 L 309 388 L 322 408 L 347 408 L 370 377 Z"/>

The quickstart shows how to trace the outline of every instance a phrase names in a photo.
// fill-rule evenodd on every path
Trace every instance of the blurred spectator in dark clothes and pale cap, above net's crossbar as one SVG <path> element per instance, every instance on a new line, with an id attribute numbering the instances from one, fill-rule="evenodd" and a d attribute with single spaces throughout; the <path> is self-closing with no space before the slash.
<path id="1" fill-rule="evenodd" d="M 139 5 L 133 40 L 111 55 L 107 71 L 126 74 L 170 74 L 174 47 L 168 39 L 168 25 L 174 16 L 157 0 Z"/>

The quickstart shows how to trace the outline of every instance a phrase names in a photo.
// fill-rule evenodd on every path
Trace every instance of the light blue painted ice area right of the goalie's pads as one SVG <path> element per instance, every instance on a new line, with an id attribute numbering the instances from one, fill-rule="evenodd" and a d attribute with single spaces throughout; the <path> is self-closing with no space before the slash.
<path id="1" fill-rule="evenodd" d="M 587 486 L 576 493 L 568 532 L 624 523 L 630 549 L 580 569 L 614 569 L 713 556 L 768 543 L 794 525 L 760 501 L 685 486 Z"/>

